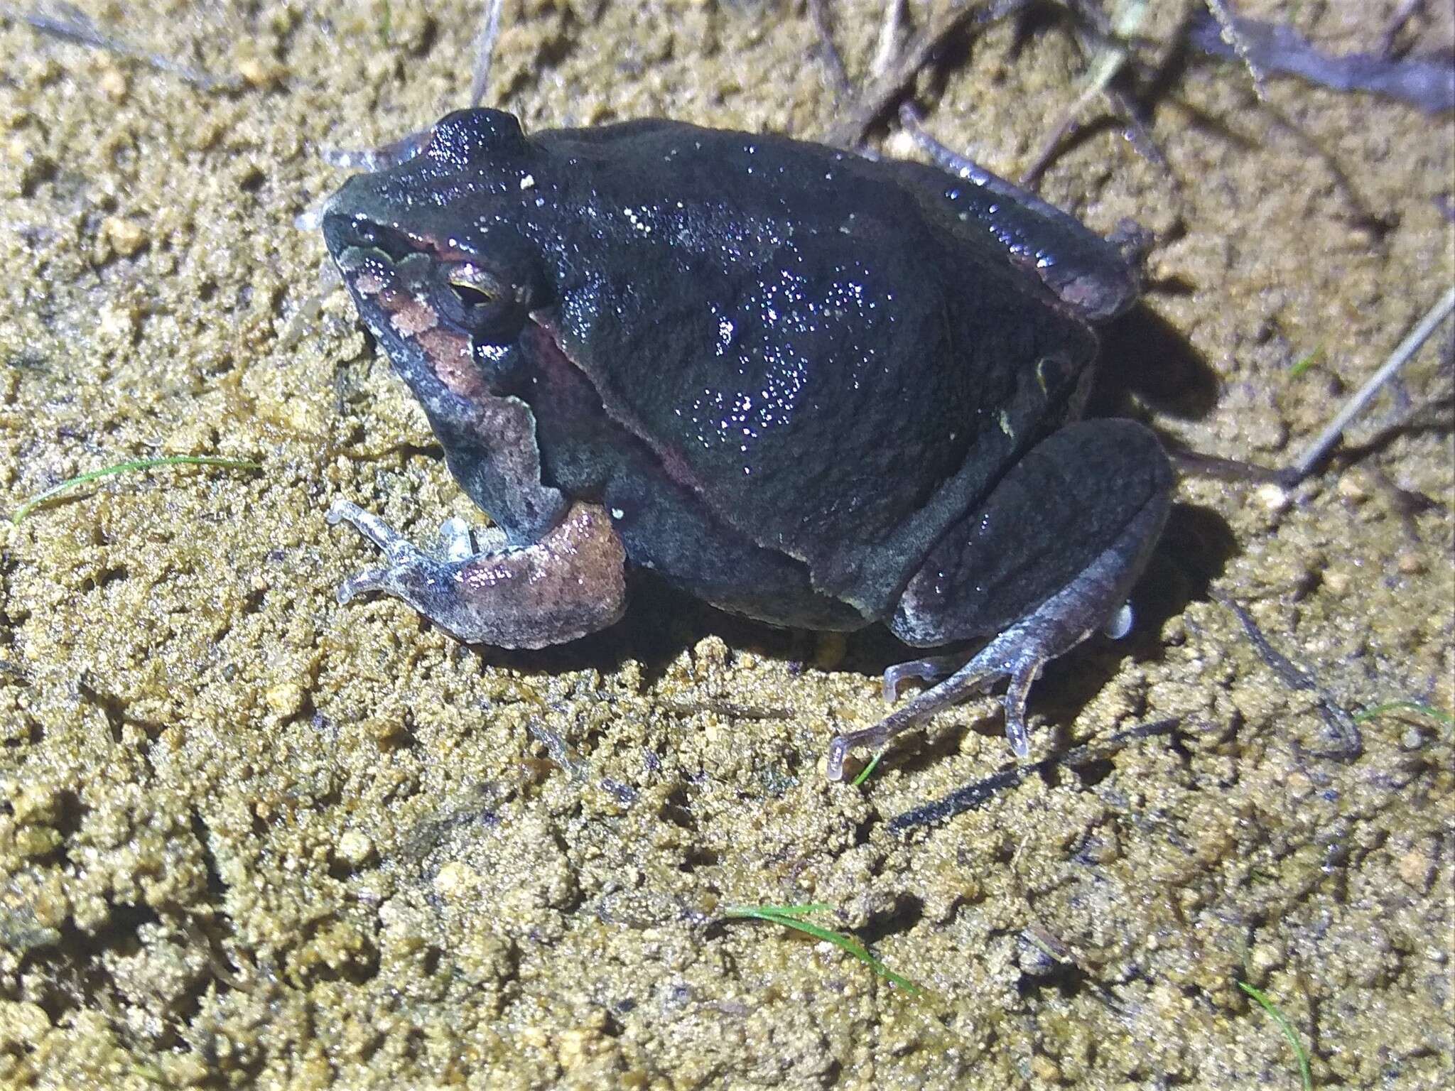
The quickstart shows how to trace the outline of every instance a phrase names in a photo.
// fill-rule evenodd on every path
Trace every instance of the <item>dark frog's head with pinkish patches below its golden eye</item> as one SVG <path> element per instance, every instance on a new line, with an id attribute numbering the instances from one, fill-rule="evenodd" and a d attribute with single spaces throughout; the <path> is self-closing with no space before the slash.
<path id="1" fill-rule="evenodd" d="M 323 237 L 394 365 L 470 397 L 550 298 L 522 230 L 533 148 L 512 115 L 486 109 L 450 113 L 418 143 L 406 161 L 345 182 Z"/>

